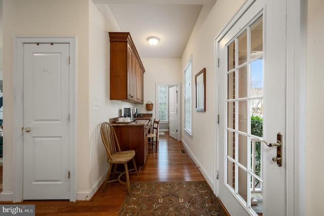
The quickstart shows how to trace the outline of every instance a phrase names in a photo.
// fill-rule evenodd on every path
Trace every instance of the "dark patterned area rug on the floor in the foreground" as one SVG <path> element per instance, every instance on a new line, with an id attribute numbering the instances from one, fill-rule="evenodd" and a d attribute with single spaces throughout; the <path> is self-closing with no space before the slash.
<path id="1" fill-rule="evenodd" d="M 118 215 L 227 215 L 206 182 L 132 183 Z"/>

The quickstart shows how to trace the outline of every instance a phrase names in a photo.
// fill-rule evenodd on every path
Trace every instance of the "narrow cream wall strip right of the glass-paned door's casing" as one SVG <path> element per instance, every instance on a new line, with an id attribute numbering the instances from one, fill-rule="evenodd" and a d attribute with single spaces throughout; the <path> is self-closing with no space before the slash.
<path id="1" fill-rule="evenodd" d="M 324 1 L 307 1 L 306 44 L 306 215 L 324 212 Z"/>

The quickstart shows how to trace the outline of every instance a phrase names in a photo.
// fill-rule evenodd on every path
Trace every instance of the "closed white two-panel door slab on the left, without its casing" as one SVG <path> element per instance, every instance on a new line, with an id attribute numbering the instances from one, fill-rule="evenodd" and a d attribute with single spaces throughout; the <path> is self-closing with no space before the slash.
<path id="1" fill-rule="evenodd" d="M 23 199 L 69 199 L 69 44 L 23 45 Z"/>

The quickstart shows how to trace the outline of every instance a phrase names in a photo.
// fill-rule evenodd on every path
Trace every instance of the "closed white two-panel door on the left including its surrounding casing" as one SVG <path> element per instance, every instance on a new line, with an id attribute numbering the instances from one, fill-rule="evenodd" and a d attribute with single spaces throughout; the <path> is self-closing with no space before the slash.
<path id="1" fill-rule="evenodd" d="M 14 168 L 20 181 L 14 202 L 76 200 L 75 44 L 76 38 L 15 40 Z"/>

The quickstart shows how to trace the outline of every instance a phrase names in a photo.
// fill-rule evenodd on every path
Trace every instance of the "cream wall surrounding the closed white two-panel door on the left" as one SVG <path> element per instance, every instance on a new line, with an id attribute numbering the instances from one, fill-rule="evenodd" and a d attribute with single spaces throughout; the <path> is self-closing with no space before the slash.
<path id="1" fill-rule="evenodd" d="M 14 37 L 16 35 L 77 36 L 77 162 L 83 167 L 88 154 L 89 130 L 89 35 L 88 0 L 4 1 L 4 178 L 3 190 L 13 191 Z M 82 88 L 80 88 L 82 87 Z M 78 168 L 78 171 L 80 169 Z M 88 188 L 80 171 L 77 183 Z"/>

